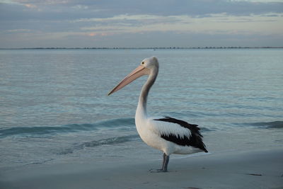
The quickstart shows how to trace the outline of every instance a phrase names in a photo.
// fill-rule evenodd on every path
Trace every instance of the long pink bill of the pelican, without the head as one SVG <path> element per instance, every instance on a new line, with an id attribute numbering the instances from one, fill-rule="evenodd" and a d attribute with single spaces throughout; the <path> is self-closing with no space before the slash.
<path id="1" fill-rule="evenodd" d="M 108 96 L 110 94 L 115 93 L 116 91 L 119 91 L 124 86 L 127 86 L 127 84 L 131 83 L 135 79 L 138 79 L 140 76 L 144 76 L 146 74 L 149 74 L 149 69 L 146 69 L 146 67 L 143 67 L 139 65 L 136 69 L 134 69 L 129 75 L 125 77 L 117 86 L 115 86 L 112 91 L 108 93 Z"/>

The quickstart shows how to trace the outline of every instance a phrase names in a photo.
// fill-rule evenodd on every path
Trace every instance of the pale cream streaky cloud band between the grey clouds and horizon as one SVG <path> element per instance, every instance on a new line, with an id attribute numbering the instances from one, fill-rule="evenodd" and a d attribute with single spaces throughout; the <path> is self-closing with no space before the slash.
<path id="1" fill-rule="evenodd" d="M 209 34 L 246 34 L 281 35 L 283 30 L 283 13 L 253 16 L 229 16 L 226 13 L 211 14 L 207 17 L 192 16 L 154 16 L 154 15 L 120 15 L 112 18 L 88 18 L 76 22 L 93 23 L 82 27 L 84 31 L 111 33 L 178 32 Z M 280 24 L 281 23 L 281 24 Z"/>

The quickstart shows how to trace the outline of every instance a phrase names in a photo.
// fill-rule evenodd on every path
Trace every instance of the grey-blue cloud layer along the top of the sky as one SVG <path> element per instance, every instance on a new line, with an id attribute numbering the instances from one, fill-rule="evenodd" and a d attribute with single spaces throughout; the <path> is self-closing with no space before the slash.
<path id="1" fill-rule="evenodd" d="M 86 21 L 93 18 L 115 18 L 121 15 L 128 17 L 136 15 L 207 17 L 219 13 L 233 16 L 283 13 L 283 2 L 6 0 L 0 3 L 0 21 Z"/>

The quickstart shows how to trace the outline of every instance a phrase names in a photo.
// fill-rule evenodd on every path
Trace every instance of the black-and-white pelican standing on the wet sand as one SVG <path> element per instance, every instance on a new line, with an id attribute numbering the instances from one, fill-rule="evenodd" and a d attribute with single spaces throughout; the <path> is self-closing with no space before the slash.
<path id="1" fill-rule="evenodd" d="M 141 139 L 150 147 L 163 151 L 161 169 L 151 169 L 151 172 L 167 172 L 169 156 L 171 154 L 193 154 L 200 151 L 207 152 L 202 142 L 202 134 L 197 125 L 171 117 L 152 118 L 146 113 L 146 101 L 151 86 L 158 75 L 158 59 L 149 57 L 129 75 L 115 86 L 108 96 L 131 83 L 140 76 L 148 75 L 148 79 L 141 88 L 139 103 L 135 115 L 137 132 Z"/>

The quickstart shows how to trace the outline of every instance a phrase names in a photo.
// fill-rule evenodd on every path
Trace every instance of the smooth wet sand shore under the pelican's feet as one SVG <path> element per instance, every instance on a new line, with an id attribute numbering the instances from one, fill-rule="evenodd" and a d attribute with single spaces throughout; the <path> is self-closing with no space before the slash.
<path id="1" fill-rule="evenodd" d="M 42 164 L 1 171 L 0 188 L 283 188 L 283 149 L 224 151 L 161 160 Z"/>

